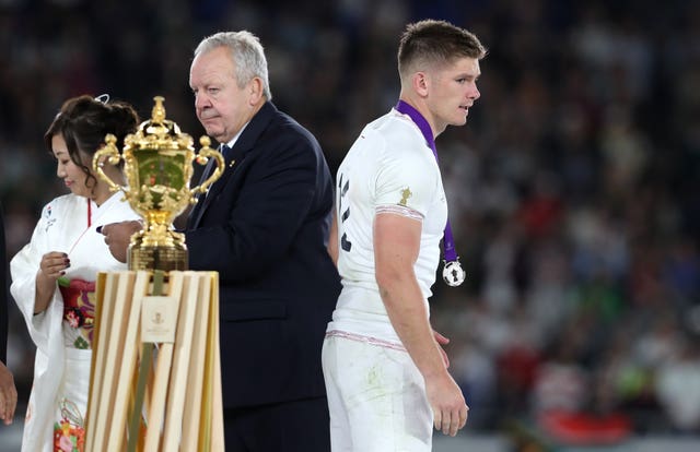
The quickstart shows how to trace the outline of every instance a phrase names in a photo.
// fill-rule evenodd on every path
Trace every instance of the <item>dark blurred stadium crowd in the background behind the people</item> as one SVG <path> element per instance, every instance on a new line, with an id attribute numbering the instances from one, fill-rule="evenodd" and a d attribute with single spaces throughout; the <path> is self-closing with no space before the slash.
<path id="1" fill-rule="evenodd" d="M 148 119 L 162 95 L 198 139 L 194 46 L 248 29 L 266 48 L 272 100 L 335 171 L 395 104 L 398 36 L 424 17 L 489 49 L 468 124 L 438 139 L 468 279 L 435 284 L 432 318 L 452 338 L 467 430 L 700 435 L 698 2 L 2 0 L 9 255 L 65 190 L 42 136 L 66 98 L 108 93 Z M 33 349 L 19 313 L 11 325 L 22 394 Z"/>

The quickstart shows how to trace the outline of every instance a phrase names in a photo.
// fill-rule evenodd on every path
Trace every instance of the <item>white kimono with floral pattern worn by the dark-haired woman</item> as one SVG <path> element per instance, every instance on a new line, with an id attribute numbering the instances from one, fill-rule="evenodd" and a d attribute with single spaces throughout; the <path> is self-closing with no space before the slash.
<path id="1" fill-rule="evenodd" d="M 82 322 L 69 321 L 72 317 L 65 318 L 63 296 L 58 285 L 48 308 L 34 314 L 36 273 L 42 257 L 50 251 L 66 252 L 70 259 L 70 267 L 61 279 L 92 284 L 97 272 L 126 270 L 126 264 L 114 259 L 104 237 L 95 230 L 108 223 L 140 218 L 122 198 L 124 194 L 117 192 L 101 206 L 72 193 L 55 199 L 44 206 L 30 243 L 10 262 L 10 290 L 36 345 L 23 452 L 52 452 L 55 441 L 60 444 L 58 450 L 82 450 L 79 449 L 79 437 L 84 436 L 84 430 L 74 435 L 75 430 L 69 431 L 65 420 L 71 419 L 72 426 L 83 423 L 85 417 L 92 352 L 90 340 L 82 338 L 81 331 L 85 335 L 89 330 L 78 326 Z M 80 309 L 74 311 L 81 316 Z M 62 433 L 59 431 L 61 425 Z M 61 438 L 62 435 L 66 438 Z"/>

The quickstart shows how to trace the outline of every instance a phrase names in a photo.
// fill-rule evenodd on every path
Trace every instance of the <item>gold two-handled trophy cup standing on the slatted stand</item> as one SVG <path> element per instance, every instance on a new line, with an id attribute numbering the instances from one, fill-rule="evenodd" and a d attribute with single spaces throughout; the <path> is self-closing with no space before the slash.
<path id="1" fill-rule="evenodd" d="M 153 98 L 152 118 L 143 121 L 135 134 L 124 140 L 120 154 L 113 134 L 105 136 L 106 145 L 93 157 L 93 168 L 112 191 L 121 190 L 131 207 L 143 218 L 143 229 L 131 236 L 127 262 L 129 270 L 187 270 L 185 235 L 173 230 L 173 221 L 188 204 L 197 202 L 196 194 L 207 191 L 224 168 L 224 159 L 209 147 L 209 136 L 201 136 L 201 150 L 195 154 L 192 139 L 179 127 L 165 119 L 164 98 Z M 199 165 L 214 158 L 217 167 L 200 186 L 189 188 L 192 162 Z M 127 187 L 116 185 L 102 166 L 106 160 L 117 165 L 124 159 Z"/>

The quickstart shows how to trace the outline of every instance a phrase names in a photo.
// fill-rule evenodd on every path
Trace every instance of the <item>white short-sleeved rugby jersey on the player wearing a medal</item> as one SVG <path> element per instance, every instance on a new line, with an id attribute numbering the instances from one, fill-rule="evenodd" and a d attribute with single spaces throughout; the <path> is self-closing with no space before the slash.
<path id="1" fill-rule="evenodd" d="M 447 203 L 440 168 L 420 129 L 392 109 L 369 123 L 338 169 L 338 271 L 342 292 L 328 330 L 396 341 L 375 278 L 373 222 L 390 212 L 422 223 L 416 276 L 428 304 Z"/>

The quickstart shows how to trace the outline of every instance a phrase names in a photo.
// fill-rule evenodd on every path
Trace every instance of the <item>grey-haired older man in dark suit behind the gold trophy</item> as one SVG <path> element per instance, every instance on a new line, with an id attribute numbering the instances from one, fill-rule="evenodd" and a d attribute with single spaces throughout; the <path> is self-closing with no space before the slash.
<path id="1" fill-rule="evenodd" d="M 326 248 L 330 171 L 316 139 L 271 104 L 250 33 L 205 38 L 189 84 L 226 160 L 185 230 L 189 267 L 220 276 L 226 452 L 329 451 L 320 349 L 340 292 Z M 116 226 L 102 231 L 125 260 L 135 229 Z"/>

